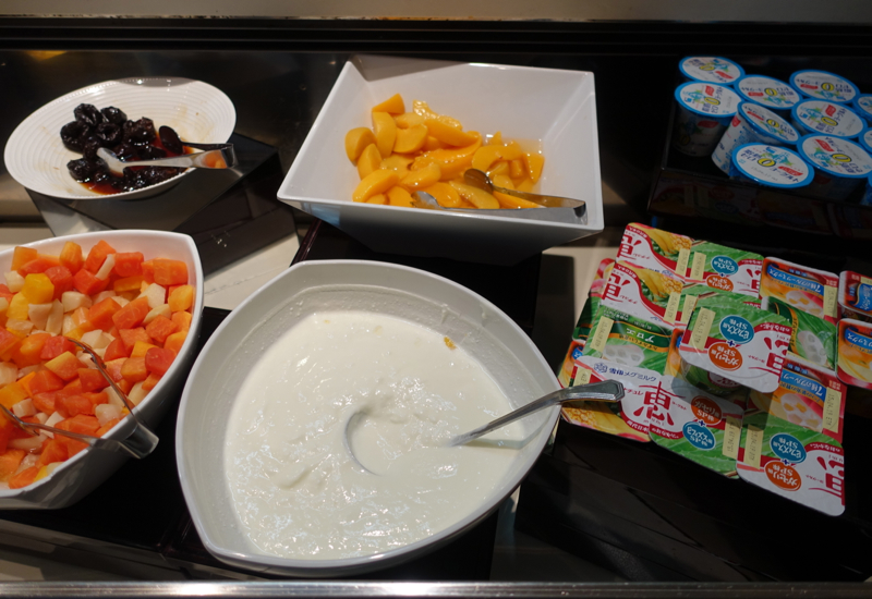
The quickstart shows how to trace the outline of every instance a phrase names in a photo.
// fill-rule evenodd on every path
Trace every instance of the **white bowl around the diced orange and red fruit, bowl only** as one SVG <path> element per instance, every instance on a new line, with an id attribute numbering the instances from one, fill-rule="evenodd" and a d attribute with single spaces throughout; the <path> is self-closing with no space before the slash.
<path id="1" fill-rule="evenodd" d="M 29 243 L 26 244 L 26 247 L 34 247 L 40 254 L 57 256 L 63 248 L 63 244 L 71 241 L 81 245 L 83 253 L 87 256 L 87 252 L 100 240 L 106 240 L 118 252 L 142 252 L 145 259 L 160 257 L 182 260 L 187 265 L 189 281 L 194 285 L 193 318 L 187 339 L 160 382 L 135 408 L 140 418 L 154 430 L 167 408 L 173 403 L 172 399 L 181 390 L 194 358 L 194 347 L 196 347 L 199 335 L 203 311 L 203 268 L 199 262 L 199 254 L 194 241 L 187 235 L 134 230 L 66 235 Z M 0 272 L 7 272 L 11 268 L 13 252 L 14 249 L 0 252 Z M 132 419 L 125 418 L 106 437 L 123 439 L 130 435 L 132 429 Z M 172 440 L 161 439 L 159 442 L 171 443 Z M 71 505 L 109 478 L 126 460 L 126 454 L 88 448 L 33 485 L 22 489 L 0 490 L 0 510 L 57 509 Z M 146 456 L 144 460 L 148 460 L 148 457 Z"/>

